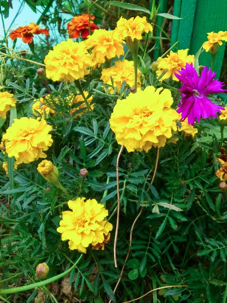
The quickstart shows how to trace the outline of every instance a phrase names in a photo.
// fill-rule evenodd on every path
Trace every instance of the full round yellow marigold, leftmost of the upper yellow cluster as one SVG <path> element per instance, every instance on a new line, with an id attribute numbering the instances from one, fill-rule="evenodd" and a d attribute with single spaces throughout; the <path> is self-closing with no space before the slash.
<path id="1" fill-rule="evenodd" d="M 89 74 L 91 58 L 83 42 L 74 42 L 72 39 L 62 41 L 53 46 L 45 57 L 46 77 L 53 81 L 71 82 L 83 79 Z"/>

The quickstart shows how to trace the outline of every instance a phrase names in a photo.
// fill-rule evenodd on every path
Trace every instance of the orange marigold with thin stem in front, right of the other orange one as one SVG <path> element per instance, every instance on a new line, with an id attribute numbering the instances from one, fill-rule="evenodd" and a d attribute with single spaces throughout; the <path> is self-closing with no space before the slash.
<path id="1" fill-rule="evenodd" d="M 91 31 L 98 28 L 98 26 L 92 21 L 94 19 L 95 17 L 90 15 Z M 82 38 L 86 38 L 89 35 L 89 15 L 82 14 L 81 16 L 73 17 L 73 19 L 67 24 L 67 30 L 70 38 L 79 38 L 79 34 Z"/>

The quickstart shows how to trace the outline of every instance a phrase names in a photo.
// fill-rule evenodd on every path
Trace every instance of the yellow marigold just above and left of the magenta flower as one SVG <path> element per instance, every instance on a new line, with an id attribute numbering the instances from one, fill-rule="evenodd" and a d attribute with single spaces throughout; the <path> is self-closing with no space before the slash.
<path id="1" fill-rule="evenodd" d="M 163 72 L 166 73 L 161 77 L 160 81 L 168 79 L 172 76 L 173 80 L 179 81 L 175 76 L 175 73 L 179 74 L 178 70 L 181 71 L 182 68 L 185 68 L 186 63 L 193 63 L 195 60 L 194 55 L 188 55 L 189 49 L 179 49 L 177 53 L 170 52 L 169 55 L 165 58 L 159 57 L 157 59 L 158 70 L 156 71 L 157 76 L 159 77 Z"/>

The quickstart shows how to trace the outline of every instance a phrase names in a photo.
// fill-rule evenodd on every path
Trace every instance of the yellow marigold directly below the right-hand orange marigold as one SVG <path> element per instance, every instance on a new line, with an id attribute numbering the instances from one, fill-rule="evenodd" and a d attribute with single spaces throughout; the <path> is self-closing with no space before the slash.
<path id="1" fill-rule="evenodd" d="M 114 30 L 95 29 L 91 36 L 85 40 L 88 48 L 92 49 L 93 61 L 99 65 L 105 62 L 105 59 L 112 59 L 124 55 L 125 43 L 119 39 Z"/>

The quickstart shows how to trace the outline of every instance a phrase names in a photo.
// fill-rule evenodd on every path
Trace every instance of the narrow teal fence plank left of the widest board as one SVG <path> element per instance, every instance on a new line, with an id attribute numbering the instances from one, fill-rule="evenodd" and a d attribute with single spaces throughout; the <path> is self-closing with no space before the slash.
<path id="1" fill-rule="evenodd" d="M 203 0 L 204 3 L 205 0 Z M 205 3 L 204 3 L 205 4 Z M 193 23 L 196 10 L 196 0 L 182 0 L 181 19 L 179 22 L 178 41 L 179 48 L 185 49 L 190 47 Z"/>

